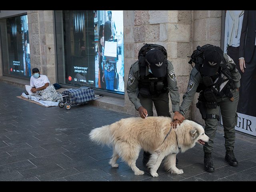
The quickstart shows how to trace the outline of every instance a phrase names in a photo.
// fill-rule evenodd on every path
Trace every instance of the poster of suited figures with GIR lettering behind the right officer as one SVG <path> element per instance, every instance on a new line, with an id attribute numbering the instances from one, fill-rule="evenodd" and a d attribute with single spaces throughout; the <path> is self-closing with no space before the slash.
<path id="1" fill-rule="evenodd" d="M 256 11 L 226 10 L 224 53 L 241 74 L 236 130 L 256 136 Z"/>

